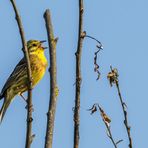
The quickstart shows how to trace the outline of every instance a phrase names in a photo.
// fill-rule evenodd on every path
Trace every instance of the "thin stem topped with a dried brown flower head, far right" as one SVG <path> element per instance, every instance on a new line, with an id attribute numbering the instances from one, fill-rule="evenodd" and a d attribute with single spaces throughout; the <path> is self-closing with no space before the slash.
<path id="1" fill-rule="evenodd" d="M 112 69 L 112 67 L 110 67 L 110 68 L 111 68 L 111 72 L 108 73 L 107 77 L 110 81 L 111 86 L 112 86 L 112 84 L 116 85 L 118 95 L 119 95 L 119 99 L 120 99 L 120 103 L 121 103 L 121 106 L 122 106 L 123 115 L 124 115 L 124 125 L 126 127 L 126 131 L 127 131 L 127 135 L 128 135 L 128 139 L 129 139 L 129 145 L 128 146 L 129 146 L 129 148 L 132 148 L 132 138 L 131 138 L 131 133 L 130 133 L 131 127 L 128 124 L 128 117 L 127 117 L 128 114 L 127 114 L 127 110 L 126 110 L 127 106 L 122 99 L 122 95 L 121 95 L 121 91 L 120 91 L 120 87 L 119 87 L 118 71 L 117 71 L 117 69 Z"/>

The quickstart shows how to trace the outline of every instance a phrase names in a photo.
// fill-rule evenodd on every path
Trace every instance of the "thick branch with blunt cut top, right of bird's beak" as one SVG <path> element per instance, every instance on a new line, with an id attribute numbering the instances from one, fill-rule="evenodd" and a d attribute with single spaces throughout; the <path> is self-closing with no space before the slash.
<path id="1" fill-rule="evenodd" d="M 57 66 L 56 66 L 56 43 L 57 38 L 54 38 L 53 27 L 51 23 L 51 15 L 49 9 L 44 13 L 48 43 L 49 43 L 49 53 L 50 53 L 50 101 L 49 109 L 47 113 L 47 128 L 46 128 L 46 138 L 45 138 L 45 148 L 52 148 L 53 141 L 53 130 L 54 130 L 54 120 L 57 102 Z"/>

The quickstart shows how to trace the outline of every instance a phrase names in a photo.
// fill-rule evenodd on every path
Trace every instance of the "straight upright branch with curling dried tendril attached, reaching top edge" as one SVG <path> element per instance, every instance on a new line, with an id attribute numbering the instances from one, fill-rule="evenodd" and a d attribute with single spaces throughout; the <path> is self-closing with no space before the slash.
<path id="1" fill-rule="evenodd" d="M 74 148 L 79 147 L 79 125 L 80 125 L 80 91 L 81 91 L 81 53 L 83 35 L 83 0 L 79 0 L 79 31 L 76 55 L 76 88 L 75 88 L 75 109 L 74 109 Z"/>

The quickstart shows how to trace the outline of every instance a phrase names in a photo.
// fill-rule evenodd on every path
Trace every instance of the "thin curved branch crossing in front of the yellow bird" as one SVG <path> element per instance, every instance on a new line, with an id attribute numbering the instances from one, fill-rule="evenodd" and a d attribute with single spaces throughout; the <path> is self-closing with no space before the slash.
<path id="1" fill-rule="evenodd" d="M 27 63 L 27 76 L 28 76 L 28 99 L 27 99 L 27 132 L 26 132 L 26 148 L 31 147 L 32 140 L 35 135 L 32 135 L 32 78 L 31 78 L 31 66 L 30 66 L 30 59 L 29 59 L 29 53 L 27 50 L 27 44 L 25 40 L 25 35 L 24 35 L 24 29 L 22 26 L 21 18 L 19 16 L 15 0 L 10 0 L 12 3 L 13 9 L 15 11 L 16 15 L 16 21 L 18 23 L 18 28 L 22 40 L 22 45 L 23 45 L 23 52 L 24 56 L 26 58 L 26 63 Z"/>

